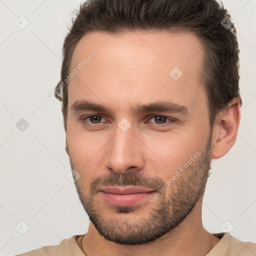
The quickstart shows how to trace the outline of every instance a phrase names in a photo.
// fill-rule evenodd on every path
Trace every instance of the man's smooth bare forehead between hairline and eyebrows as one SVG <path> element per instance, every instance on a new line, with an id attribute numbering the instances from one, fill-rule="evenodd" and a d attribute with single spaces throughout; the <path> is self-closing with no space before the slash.
<path id="1" fill-rule="evenodd" d="M 68 85 L 68 104 L 91 97 L 106 105 L 165 97 L 188 105 L 202 93 L 202 57 L 202 44 L 191 32 L 89 32 L 72 55 L 70 71 L 78 72 Z"/>

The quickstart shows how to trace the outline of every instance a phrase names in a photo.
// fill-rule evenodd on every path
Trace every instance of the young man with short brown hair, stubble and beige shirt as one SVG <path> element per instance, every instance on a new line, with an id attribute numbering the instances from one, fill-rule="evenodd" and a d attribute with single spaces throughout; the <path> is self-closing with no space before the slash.
<path id="1" fill-rule="evenodd" d="M 210 162 L 240 121 L 238 52 L 215 0 L 82 4 L 54 94 L 90 224 L 20 255 L 255 255 L 201 219 Z"/>

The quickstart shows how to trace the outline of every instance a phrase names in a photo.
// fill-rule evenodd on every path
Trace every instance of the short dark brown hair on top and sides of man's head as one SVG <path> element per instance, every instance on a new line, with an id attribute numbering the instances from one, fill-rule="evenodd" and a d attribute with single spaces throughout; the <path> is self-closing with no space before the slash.
<path id="1" fill-rule="evenodd" d="M 216 114 L 233 97 L 239 97 L 239 48 L 236 29 L 222 2 L 216 0 L 88 0 L 80 4 L 65 37 L 61 79 L 55 97 L 62 101 L 64 127 L 67 120 L 67 86 L 59 84 L 69 74 L 74 48 L 89 31 L 117 34 L 134 30 L 194 32 L 204 48 L 201 78 L 207 93 L 208 115 L 212 128 Z M 56 93 L 57 92 L 57 93 Z"/>

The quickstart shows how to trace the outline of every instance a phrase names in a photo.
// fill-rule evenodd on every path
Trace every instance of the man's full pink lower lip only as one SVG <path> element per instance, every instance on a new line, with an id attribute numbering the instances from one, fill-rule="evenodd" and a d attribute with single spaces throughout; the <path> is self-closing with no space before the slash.
<path id="1" fill-rule="evenodd" d="M 112 194 L 101 191 L 103 197 L 110 203 L 119 206 L 129 206 L 138 203 L 142 199 L 148 198 L 154 191 L 134 194 Z"/>

